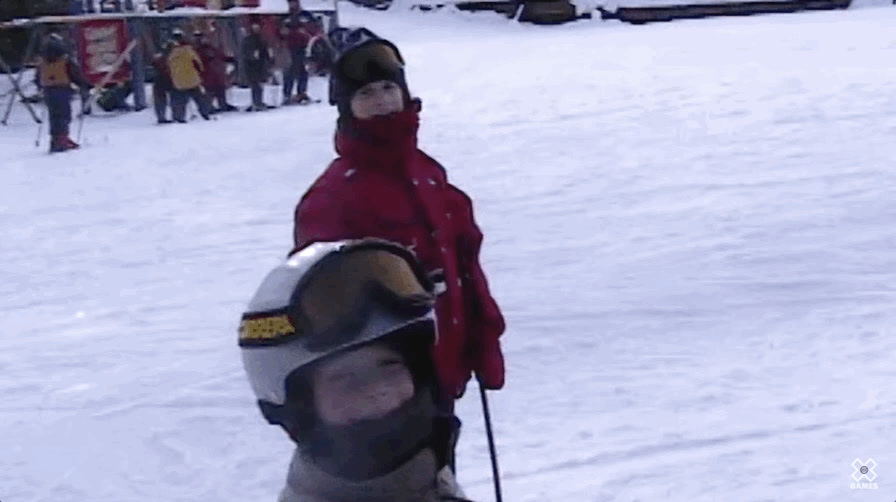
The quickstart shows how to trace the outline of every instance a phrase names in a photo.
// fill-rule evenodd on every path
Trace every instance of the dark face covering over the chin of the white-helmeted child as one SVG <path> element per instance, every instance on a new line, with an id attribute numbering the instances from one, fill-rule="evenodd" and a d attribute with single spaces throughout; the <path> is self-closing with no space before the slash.
<path id="1" fill-rule="evenodd" d="M 429 445 L 436 415 L 430 391 L 420 389 L 389 414 L 346 426 L 320 422 L 302 448 L 333 476 L 364 481 L 384 476 Z"/>

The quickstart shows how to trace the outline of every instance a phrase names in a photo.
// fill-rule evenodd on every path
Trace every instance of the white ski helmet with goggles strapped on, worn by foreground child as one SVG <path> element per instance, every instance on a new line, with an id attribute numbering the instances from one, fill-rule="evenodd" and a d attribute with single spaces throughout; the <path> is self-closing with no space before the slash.
<path id="1" fill-rule="evenodd" d="M 264 278 L 239 326 L 243 365 L 272 424 L 287 378 L 315 361 L 404 328 L 434 342 L 435 286 L 407 248 L 380 239 L 319 242 Z"/>

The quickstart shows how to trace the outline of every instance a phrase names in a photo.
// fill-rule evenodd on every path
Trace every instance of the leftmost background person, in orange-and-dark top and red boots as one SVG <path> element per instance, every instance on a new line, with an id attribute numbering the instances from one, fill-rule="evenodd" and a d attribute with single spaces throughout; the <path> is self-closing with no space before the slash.
<path id="1" fill-rule="evenodd" d="M 72 61 L 65 42 L 56 33 L 47 37 L 38 64 L 35 80 L 43 91 L 44 103 L 50 120 L 50 152 L 63 152 L 78 148 L 79 145 L 69 136 L 72 122 L 72 85 L 84 92 L 90 89 L 90 83 L 81 71 L 81 67 Z"/>

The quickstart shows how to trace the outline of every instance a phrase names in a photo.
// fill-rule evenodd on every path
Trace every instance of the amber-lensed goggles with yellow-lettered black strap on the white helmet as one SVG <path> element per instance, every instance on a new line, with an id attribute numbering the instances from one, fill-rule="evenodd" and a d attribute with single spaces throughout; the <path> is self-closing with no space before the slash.
<path id="1" fill-rule="evenodd" d="M 287 306 L 244 314 L 239 344 L 295 341 L 305 351 L 328 352 L 381 331 L 371 326 L 375 317 L 413 319 L 434 303 L 435 287 L 410 251 L 386 241 L 361 241 L 311 265 L 295 283 Z"/>

